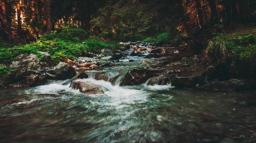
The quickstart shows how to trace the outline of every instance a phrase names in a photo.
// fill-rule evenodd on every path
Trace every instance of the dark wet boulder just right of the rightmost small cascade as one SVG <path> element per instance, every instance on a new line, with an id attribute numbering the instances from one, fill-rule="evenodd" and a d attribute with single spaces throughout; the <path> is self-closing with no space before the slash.
<path id="1" fill-rule="evenodd" d="M 195 87 L 196 84 L 204 83 L 205 78 L 204 70 L 195 70 L 177 74 L 171 82 L 175 87 Z"/>

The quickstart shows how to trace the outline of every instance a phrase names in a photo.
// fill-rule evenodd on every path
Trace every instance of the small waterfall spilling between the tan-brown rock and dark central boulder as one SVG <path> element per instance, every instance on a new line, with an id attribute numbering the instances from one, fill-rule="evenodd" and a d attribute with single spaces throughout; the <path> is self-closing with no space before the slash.
<path id="1" fill-rule="evenodd" d="M 89 79 L 104 80 L 108 81 L 113 85 L 119 85 L 123 78 L 123 74 L 119 72 L 91 72 L 87 73 Z"/>

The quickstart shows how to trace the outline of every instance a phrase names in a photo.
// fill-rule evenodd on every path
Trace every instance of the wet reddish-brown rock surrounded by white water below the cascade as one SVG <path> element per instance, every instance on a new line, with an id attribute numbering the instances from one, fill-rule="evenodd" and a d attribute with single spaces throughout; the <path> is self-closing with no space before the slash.
<path id="1" fill-rule="evenodd" d="M 75 90 L 79 90 L 80 93 L 84 93 L 87 95 L 104 93 L 104 91 L 98 85 L 93 83 L 87 83 L 81 80 L 72 81 L 70 87 Z"/>

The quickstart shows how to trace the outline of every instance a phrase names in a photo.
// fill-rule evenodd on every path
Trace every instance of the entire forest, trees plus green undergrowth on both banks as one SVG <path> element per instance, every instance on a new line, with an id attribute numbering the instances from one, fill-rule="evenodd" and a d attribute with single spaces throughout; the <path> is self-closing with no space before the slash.
<path id="1" fill-rule="evenodd" d="M 255 0 L 1 0 L 0 69 L 23 53 L 59 61 L 143 40 L 255 77 L 255 22 Z"/>

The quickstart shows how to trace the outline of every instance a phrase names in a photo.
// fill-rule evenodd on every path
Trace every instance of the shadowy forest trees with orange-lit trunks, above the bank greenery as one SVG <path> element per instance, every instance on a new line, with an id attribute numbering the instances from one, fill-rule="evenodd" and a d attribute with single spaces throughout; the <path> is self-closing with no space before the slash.
<path id="1" fill-rule="evenodd" d="M 216 25 L 232 30 L 237 24 L 255 22 L 256 1 L 1 0 L 0 19 L 3 41 L 12 41 L 11 34 L 40 38 L 73 25 L 84 29 L 87 36 L 114 40 L 153 39 L 162 34 L 202 42 L 200 35 L 215 33 Z"/>

